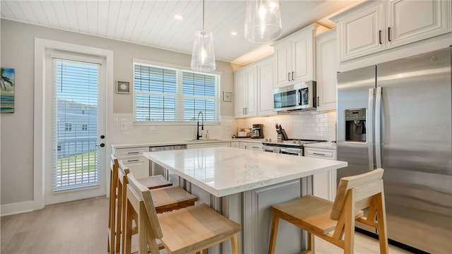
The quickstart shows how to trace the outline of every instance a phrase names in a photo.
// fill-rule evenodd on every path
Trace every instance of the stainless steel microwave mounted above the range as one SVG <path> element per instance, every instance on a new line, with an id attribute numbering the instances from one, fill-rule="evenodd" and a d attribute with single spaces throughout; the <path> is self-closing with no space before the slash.
<path id="1" fill-rule="evenodd" d="M 315 110 L 316 99 L 316 81 L 273 89 L 273 109 L 275 111 Z"/>

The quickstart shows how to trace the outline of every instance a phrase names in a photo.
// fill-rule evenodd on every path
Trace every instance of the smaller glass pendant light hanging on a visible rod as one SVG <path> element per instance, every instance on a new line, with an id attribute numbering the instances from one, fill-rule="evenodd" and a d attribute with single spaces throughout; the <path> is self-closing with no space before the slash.
<path id="1" fill-rule="evenodd" d="M 213 35 L 204 29 L 204 0 L 203 0 L 203 29 L 195 31 L 193 53 L 191 54 L 191 69 L 194 71 L 215 71 L 215 52 L 213 52 Z"/>

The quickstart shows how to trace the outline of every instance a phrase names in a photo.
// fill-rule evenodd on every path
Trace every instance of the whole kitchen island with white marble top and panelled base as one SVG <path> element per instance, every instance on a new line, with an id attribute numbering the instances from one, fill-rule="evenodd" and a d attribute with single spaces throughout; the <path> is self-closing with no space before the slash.
<path id="1" fill-rule="evenodd" d="M 167 169 L 166 177 L 242 224 L 241 253 L 266 253 L 270 205 L 312 193 L 312 178 L 347 162 L 297 157 L 234 147 L 145 152 L 145 157 Z M 230 245 L 212 253 L 230 253 Z M 280 223 L 278 253 L 299 253 L 305 236 L 295 226 Z"/>

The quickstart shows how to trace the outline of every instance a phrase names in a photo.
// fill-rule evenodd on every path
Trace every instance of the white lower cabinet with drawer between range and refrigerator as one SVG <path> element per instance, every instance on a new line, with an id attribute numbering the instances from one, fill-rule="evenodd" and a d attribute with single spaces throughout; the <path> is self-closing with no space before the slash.
<path id="1" fill-rule="evenodd" d="M 336 150 L 328 148 L 304 147 L 305 157 L 336 159 Z M 330 170 L 314 175 L 314 195 L 333 201 L 336 195 L 336 171 Z"/>

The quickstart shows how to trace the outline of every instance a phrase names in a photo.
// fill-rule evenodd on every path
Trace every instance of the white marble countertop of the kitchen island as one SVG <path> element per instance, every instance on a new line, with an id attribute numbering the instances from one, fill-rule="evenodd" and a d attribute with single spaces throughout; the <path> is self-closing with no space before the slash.
<path id="1" fill-rule="evenodd" d="M 234 147 L 145 152 L 143 155 L 217 197 L 347 167 L 347 162 Z"/>

